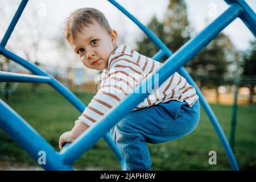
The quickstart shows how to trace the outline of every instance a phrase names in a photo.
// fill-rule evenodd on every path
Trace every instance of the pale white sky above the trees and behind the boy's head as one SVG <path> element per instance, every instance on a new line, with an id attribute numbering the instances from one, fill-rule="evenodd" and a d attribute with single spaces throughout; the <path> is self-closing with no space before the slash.
<path id="1" fill-rule="evenodd" d="M 20 0 L 0 0 L 0 7 L 4 18 L 0 22 L 0 37 L 3 37 L 13 14 L 18 7 Z M 147 24 L 153 15 L 162 20 L 168 6 L 168 0 L 118 0 L 131 14 L 138 18 L 143 24 Z M 256 11 L 256 1 L 246 1 Z M 228 5 L 222 0 L 185 0 L 187 4 L 188 18 L 191 26 L 196 32 L 203 30 L 207 24 L 212 22 L 218 15 L 228 9 Z M 119 43 L 127 44 L 135 48 L 135 42 L 143 35 L 143 32 L 129 18 L 123 15 L 117 8 L 106 0 L 33 0 L 29 1 L 22 17 L 15 27 L 14 35 L 7 44 L 20 56 L 24 56 L 19 48 L 25 46 L 31 52 L 31 59 L 37 57 L 45 64 L 60 65 L 72 61 L 74 67 L 81 67 L 81 63 L 73 63 L 73 52 L 70 57 L 63 57 L 61 50 L 57 48 L 56 39 L 63 37 L 65 18 L 75 9 L 81 7 L 95 7 L 101 10 L 109 20 L 110 26 L 118 31 Z M 254 40 L 253 34 L 247 29 L 240 19 L 234 20 L 225 28 L 224 33 L 229 36 L 237 49 L 246 50 L 249 48 L 250 40 Z M 20 40 L 23 39 L 23 40 Z M 38 40 L 39 51 L 33 55 L 33 40 Z M 21 46 L 18 46 L 19 42 Z M 72 56 L 73 55 L 73 56 Z"/>

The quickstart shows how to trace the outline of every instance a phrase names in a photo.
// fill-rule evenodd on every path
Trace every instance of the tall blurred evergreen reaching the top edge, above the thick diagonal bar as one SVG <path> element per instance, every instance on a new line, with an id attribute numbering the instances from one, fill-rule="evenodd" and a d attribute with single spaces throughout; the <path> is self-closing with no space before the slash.
<path id="1" fill-rule="evenodd" d="M 175 52 L 185 42 L 190 39 L 191 28 L 187 19 L 187 7 L 183 0 L 170 1 L 163 22 L 159 22 L 156 16 L 153 16 L 150 23 L 147 24 L 171 51 Z M 154 43 L 142 36 L 137 42 L 137 51 L 143 55 L 153 56 L 158 52 Z"/>

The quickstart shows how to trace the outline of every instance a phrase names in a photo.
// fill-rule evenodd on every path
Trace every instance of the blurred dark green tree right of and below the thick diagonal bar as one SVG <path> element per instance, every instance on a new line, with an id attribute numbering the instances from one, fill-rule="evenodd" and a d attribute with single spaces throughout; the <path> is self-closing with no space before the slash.
<path id="1" fill-rule="evenodd" d="M 198 55 L 186 65 L 191 76 L 199 82 L 199 86 L 214 88 L 218 102 L 218 86 L 231 84 L 234 72 L 230 65 L 239 60 L 233 43 L 223 33 L 220 33 Z"/>

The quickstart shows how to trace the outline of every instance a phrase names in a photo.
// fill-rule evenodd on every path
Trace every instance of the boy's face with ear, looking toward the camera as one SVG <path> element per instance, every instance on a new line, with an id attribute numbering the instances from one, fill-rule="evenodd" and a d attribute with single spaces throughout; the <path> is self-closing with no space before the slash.
<path id="1" fill-rule="evenodd" d="M 94 21 L 89 27 L 84 27 L 78 32 L 76 40 L 71 47 L 77 53 L 82 64 L 90 69 L 108 69 L 108 59 L 114 51 L 117 40 L 117 32 L 110 34 L 100 24 Z"/>

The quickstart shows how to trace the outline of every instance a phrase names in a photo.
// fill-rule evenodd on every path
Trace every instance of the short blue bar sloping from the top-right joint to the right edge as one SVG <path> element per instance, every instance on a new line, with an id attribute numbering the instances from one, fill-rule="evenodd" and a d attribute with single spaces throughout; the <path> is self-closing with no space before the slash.
<path id="1" fill-rule="evenodd" d="M 229 5 L 236 4 L 242 8 L 240 18 L 256 38 L 256 14 L 243 0 L 225 0 Z"/>

